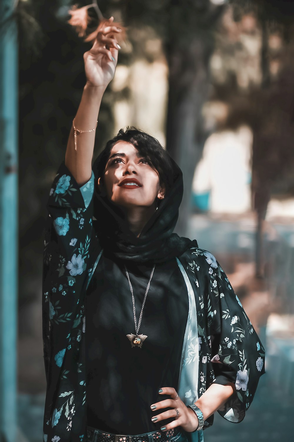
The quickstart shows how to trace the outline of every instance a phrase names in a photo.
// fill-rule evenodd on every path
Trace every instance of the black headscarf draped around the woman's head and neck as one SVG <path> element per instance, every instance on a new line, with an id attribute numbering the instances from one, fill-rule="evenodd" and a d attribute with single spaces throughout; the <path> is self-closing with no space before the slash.
<path id="1" fill-rule="evenodd" d="M 101 247 L 118 259 L 137 263 L 160 263 L 180 256 L 190 247 L 197 247 L 196 240 L 190 240 L 173 233 L 179 217 L 179 206 L 183 196 L 183 178 L 179 166 L 171 158 L 173 183 L 160 201 L 158 210 L 151 216 L 139 237 L 128 227 L 123 212 L 107 197 L 102 197 L 98 189 L 97 164 L 93 164 L 94 217 L 93 227 L 97 232 Z"/>

